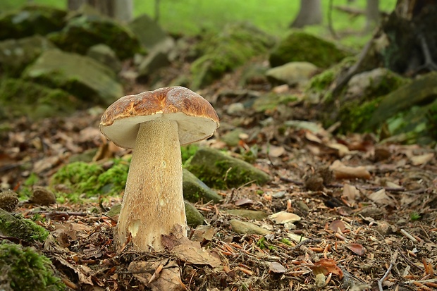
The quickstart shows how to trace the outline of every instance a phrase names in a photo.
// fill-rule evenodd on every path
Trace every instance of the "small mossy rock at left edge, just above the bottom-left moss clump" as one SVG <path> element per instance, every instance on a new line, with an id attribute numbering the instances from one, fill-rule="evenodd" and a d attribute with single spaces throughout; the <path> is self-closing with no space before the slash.
<path id="1" fill-rule="evenodd" d="M 20 240 L 44 242 L 49 232 L 29 219 L 13 216 L 0 209 L 0 233 L 8 237 L 17 237 Z"/>

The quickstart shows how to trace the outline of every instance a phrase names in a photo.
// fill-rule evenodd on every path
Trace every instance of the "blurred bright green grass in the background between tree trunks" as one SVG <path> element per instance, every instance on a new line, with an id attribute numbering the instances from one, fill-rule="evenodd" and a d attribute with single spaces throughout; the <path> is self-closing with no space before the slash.
<path id="1" fill-rule="evenodd" d="M 133 0 L 134 16 L 147 13 L 154 18 L 155 1 Z M 25 4 L 26 0 L 1 0 L 0 11 L 16 8 Z M 48 4 L 58 8 L 66 7 L 66 0 L 34 0 L 36 4 Z M 223 25 L 238 20 L 249 20 L 271 35 L 281 37 L 288 32 L 288 25 L 299 11 L 300 1 L 294 0 L 161 0 L 159 23 L 165 30 L 173 34 L 197 35 L 203 30 L 219 31 Z M 322 0 L 324 23 L 305 27 L 305 30 L 315 35 L 330 38 L 328 30 L 328 2 Z M 396 0 L 380 1 L 380 10 L 390 12 L 395 7 Z M 337 6 L 346 6 L 347 0 L 333 0 Z M 356 0 L 349 4 L 354 8 L 366 6 L 366 0 Z M 364 16 L 350 17 L 347 13 L 337 10 L 332 14 L 333 27 L 336 32 L 347 32 L 341 42 L 348 46 L 359 47 L 364 44 L 371 32 L 362 34 Z"/>

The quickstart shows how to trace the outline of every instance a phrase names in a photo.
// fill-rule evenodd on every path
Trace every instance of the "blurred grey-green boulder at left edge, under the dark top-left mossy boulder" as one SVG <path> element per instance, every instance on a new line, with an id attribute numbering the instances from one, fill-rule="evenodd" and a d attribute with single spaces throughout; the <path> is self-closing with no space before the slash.
<path id="1" fill-rule="evenodd" d="M 9 77 L 18 77 L 42 51 L 54 48 L 54 44 L 40 35 L 6 39 L 0 42 L 0 66 Z"/>

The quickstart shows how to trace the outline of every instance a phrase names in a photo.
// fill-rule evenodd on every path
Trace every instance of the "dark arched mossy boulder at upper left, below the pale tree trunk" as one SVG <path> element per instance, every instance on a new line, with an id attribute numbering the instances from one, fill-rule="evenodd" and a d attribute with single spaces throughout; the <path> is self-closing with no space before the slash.
<path id="1" fill-rule="evenodd" d="M 70 18 L 63 30 L 53 32 L 47 37 L 63 51 L 78 54 L 86 54 L 96 44 L 106 44 L 121 60 L 143 52 L 140 42 L 128 27 L 96 15 Z"/>

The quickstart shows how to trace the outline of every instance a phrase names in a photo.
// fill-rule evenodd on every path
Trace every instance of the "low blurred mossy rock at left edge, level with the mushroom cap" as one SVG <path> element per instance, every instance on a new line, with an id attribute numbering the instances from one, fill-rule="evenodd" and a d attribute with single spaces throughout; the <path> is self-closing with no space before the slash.
<path id="1" fill-rule="evenodd" d="M 81 104 L 62 89 L 51 89 L 35 82 L 4 78 L 0 80 L 0 106 L 4 118 L 66 116 Z M 1 119 L 1 117 L 0 117 Z"/>

